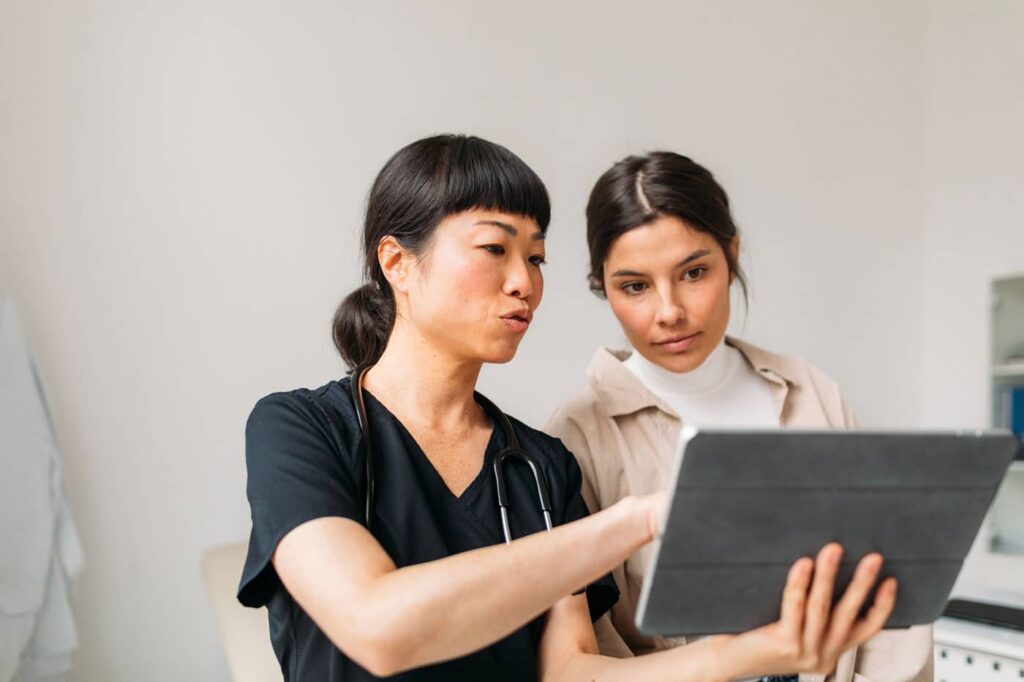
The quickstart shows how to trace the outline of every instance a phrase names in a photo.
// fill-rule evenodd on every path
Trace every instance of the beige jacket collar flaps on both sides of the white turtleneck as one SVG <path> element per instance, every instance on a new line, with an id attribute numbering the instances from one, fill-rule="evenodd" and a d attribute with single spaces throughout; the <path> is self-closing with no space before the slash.
<path id="1" fill-rule="evenodd" d="M 790 360 L 782 355 L 764 350 L 755 345 L 725 337 L 725 343 L 743 356 L 758 376 L 772 384 L 772 393 L 781 420 L 785 396 L 796 385 L 795 373 Z M 591 388 L 601 398 L 609 417 L 624 417 L 633 413 L 656 408 L 667 415 L 679 419 L 679 415 L 660 398 L 650 392 L 636 376 L 623 365 L 630 356 L 628 350 L 598 348 L 587 368 Z"/>

